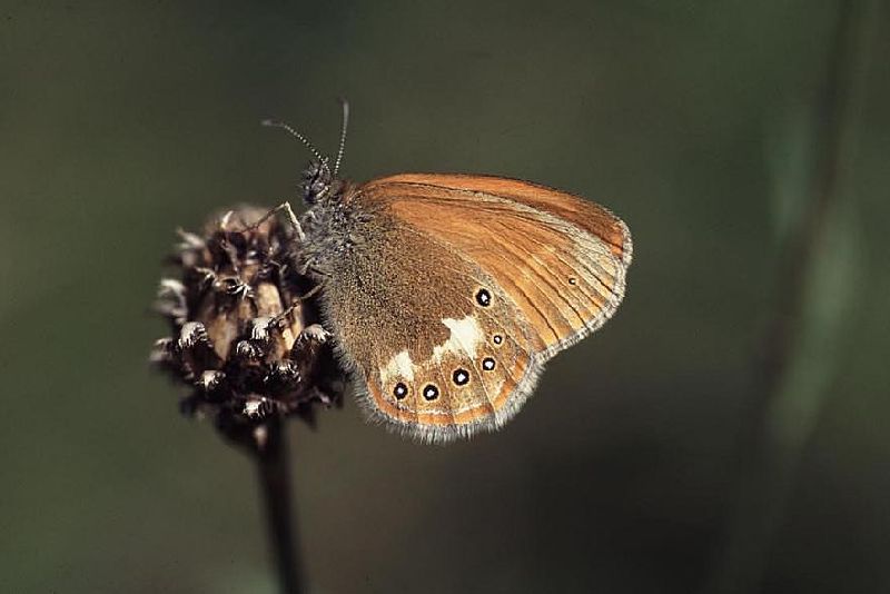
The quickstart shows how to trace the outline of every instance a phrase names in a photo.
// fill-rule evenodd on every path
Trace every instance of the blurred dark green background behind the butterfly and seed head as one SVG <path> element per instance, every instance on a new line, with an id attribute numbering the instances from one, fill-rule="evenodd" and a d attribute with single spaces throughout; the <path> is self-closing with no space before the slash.
<path id="1" fill-rule="evenodd" d="M 0 2 L 0 591 L 275 592 L 250 461 L 178 416 L 149 306 L 177 227 L 295 196 L 308 155 L 259 120 L 334 150 L 338 96 L 349 177 L 555 186 L 635 261 L 497 435 L 291 426 L 313 592 L 890 591 L 890 8 L 856 3 L 838 83 L 840 7 Z"/>

